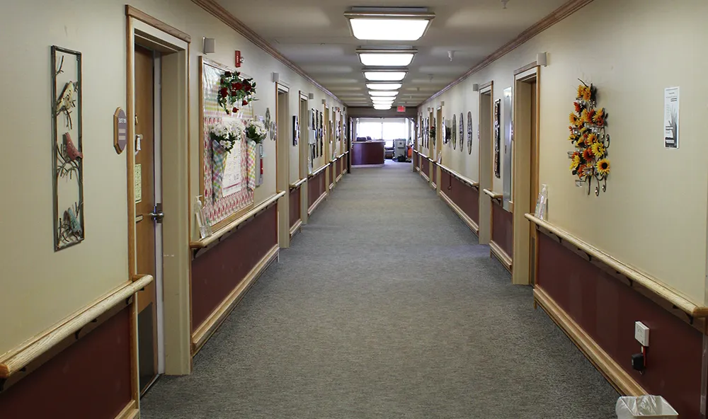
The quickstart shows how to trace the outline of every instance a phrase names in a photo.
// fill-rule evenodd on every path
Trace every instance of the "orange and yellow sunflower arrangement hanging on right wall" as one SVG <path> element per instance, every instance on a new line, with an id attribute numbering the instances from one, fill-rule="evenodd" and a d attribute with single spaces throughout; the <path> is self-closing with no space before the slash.
<path id="1" fill-rule="evenodd" d="M 607 134 L 607 111 L 596 108 L 598 88 L 588 86 L 581 80 L 578 95 L 573 103 L 575 111 L 570 114 L 569 141 L 575 151 L 569 151 L 570 171 L 576 176 L 576 185 L 588 185 L 588 195 L 597 181 L 595 196 L 607 190 L 607 176 L 610 176 L 610 134 Z"/>

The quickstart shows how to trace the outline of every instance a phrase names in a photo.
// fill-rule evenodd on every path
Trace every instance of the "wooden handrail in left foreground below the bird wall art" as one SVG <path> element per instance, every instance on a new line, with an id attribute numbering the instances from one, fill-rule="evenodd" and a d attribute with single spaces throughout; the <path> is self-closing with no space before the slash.
<path id="1" fill-rule="evenodd" d="M 144 275 L 137 281 L 126 282 L 114 292 L 111 292 L 106 297 L 98 302 L 93 303 L 86 309 L 79 311 L 67 318 L 66 321 L 52 328 L 47 333 L 38 335 L 33 340 L 23 343 L 21 347 L 10 350 L 0 356 L 0 379 L 7 379 L 12 374 L 15 374 L 25 368 L 30 362 L 33 362 L 38 357 L 52 347 L 62 342 L 62 340 L 73 335 L 87 324 L 94 321 L 98 316 L 106 311 L 113 309 L 120 302 L 125 302 L 133 294 L 143 289 L 152 282 L 152 275 Z"/>

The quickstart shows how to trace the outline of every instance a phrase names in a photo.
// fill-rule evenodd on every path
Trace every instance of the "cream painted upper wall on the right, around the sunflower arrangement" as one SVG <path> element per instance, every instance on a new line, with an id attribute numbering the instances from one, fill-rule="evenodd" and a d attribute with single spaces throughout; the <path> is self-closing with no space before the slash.
<path id="1" fill-rule="evenodd" d="M 472 84 L 494 81 L 494 100 L 513 71 L 548 52 L 540 71 L 540 183 L 549 222 L 703 304 L 708 177 L 702 138 L 708 110 L 708 3 L 595 0 L 430 102 L 475 112 Z M 612 175 L 600 197 L 576 188 L 568 171 L 568 114 L 578 79 L 598 86 L 612 137 Z M 680 149 L 663 148 L 663 89 L 681 87 Z M 478 124 L 474 117 L 474 132 Z M 477 144 L 475 139 L 475 144 Z M 475 145 L 476 147 L 476 145 Z M 444 161 L 474 178 L 474 160 Z M 459 150 L 457 150 L 459 154 Z M 447 163 L 446 163 L 447 164 Z M 472 172 L 470 172 L 472 171 Z M 503 171 L 502 171 L 503 173 Z M 501 191 L 501 179 L 494 180 Z"/>

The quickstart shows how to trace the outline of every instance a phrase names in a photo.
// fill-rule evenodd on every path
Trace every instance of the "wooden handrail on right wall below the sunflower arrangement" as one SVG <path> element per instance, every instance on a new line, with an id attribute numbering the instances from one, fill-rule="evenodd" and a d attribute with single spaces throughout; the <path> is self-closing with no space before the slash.
<path id="1" fill-rule="evenodd" d="M 666 287 L 666 285 L 662 285 L 660 281 L 656 280 L 656 278 L 646 275 L 645 273 L 640 272 L 635 268 L 632 268 L 632 266 L 622 263 L 621 261 L 613 258 L 612 256 L 601 251 L 590 243 L 587 243 L 582 239 L 578 239 L 578 237 L 573 236 L 573 234 L 570 234 L 568 231 L 554 226 L 553 224 L 550 224 L 547 221 L 539 219 L 533 214 L 525 214 L 525 217 L 529 219 L 530 222 L 536 224 L 536 226 L 542 227 L 543 229 L 547 229 L 554 235 L 558 236 L 560 239 L 571 243 L 573 246 L 576 246 L 576 248 L 585 252 L 586 254 L 588 254 L 588 256 L 600 260 L 602 263 L 609 266 L 616 272 L 624 275 L 629 280 L 637 282 L 642 287 L 649 289 L 649 291 L 653 292 L 653 294 L 656 294 L 657 297 L 660 297 L 661 299 L 670 302 L 670 304 L 680 309 L 681 311 L 684 311 L 686 314 L 692 317 L 708 317 L 708 307 L 693 304 L 692 302 L 690 302 L 689 299 L 683 297 L 683 295 L 679 294 L 678 292 L 675 292 L 669 287 Z"/>

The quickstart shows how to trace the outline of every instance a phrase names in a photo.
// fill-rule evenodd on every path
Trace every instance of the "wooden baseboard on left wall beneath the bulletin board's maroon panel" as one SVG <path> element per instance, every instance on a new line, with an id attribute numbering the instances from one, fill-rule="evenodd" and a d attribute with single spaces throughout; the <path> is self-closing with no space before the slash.
<path id="1" fill-rule="evenodd" d="M 263 256 L 263 258 L 256 263 L 256 266 L 251 269 L 248 275 L 244 277 L 244 280 L 242 280 L 239 285 L 237 285 L 236 288 L 226 297 L 226 299 L 224 299 L 222 304 L 219 304 L 219 306 L 212 311 L 212 314 L 207 317 L 204 323 L 202 323 L 197 330 L 192 333 L 192 356 L 196 355 L 207 340 L 209 340 L 214 332 L 217 331 L 217 328 L 219 328 L 221 323 L 226 320 L 234 307 L 236 307 L 236 304 L 238 304 L 244 295 L 246 295 L 249 288 L 256 283 L 256 280 L 258 280 L 258 277 L 261 276 L 261 273 L 268 268 L 270 263 L 273 263 L 273 260 L 278 258 L 279 251 L 280 247 L 276 244 L 270 249 L 270 251 L 268 251 L 268 253 L 265 253 L 265 256 Z"/>

